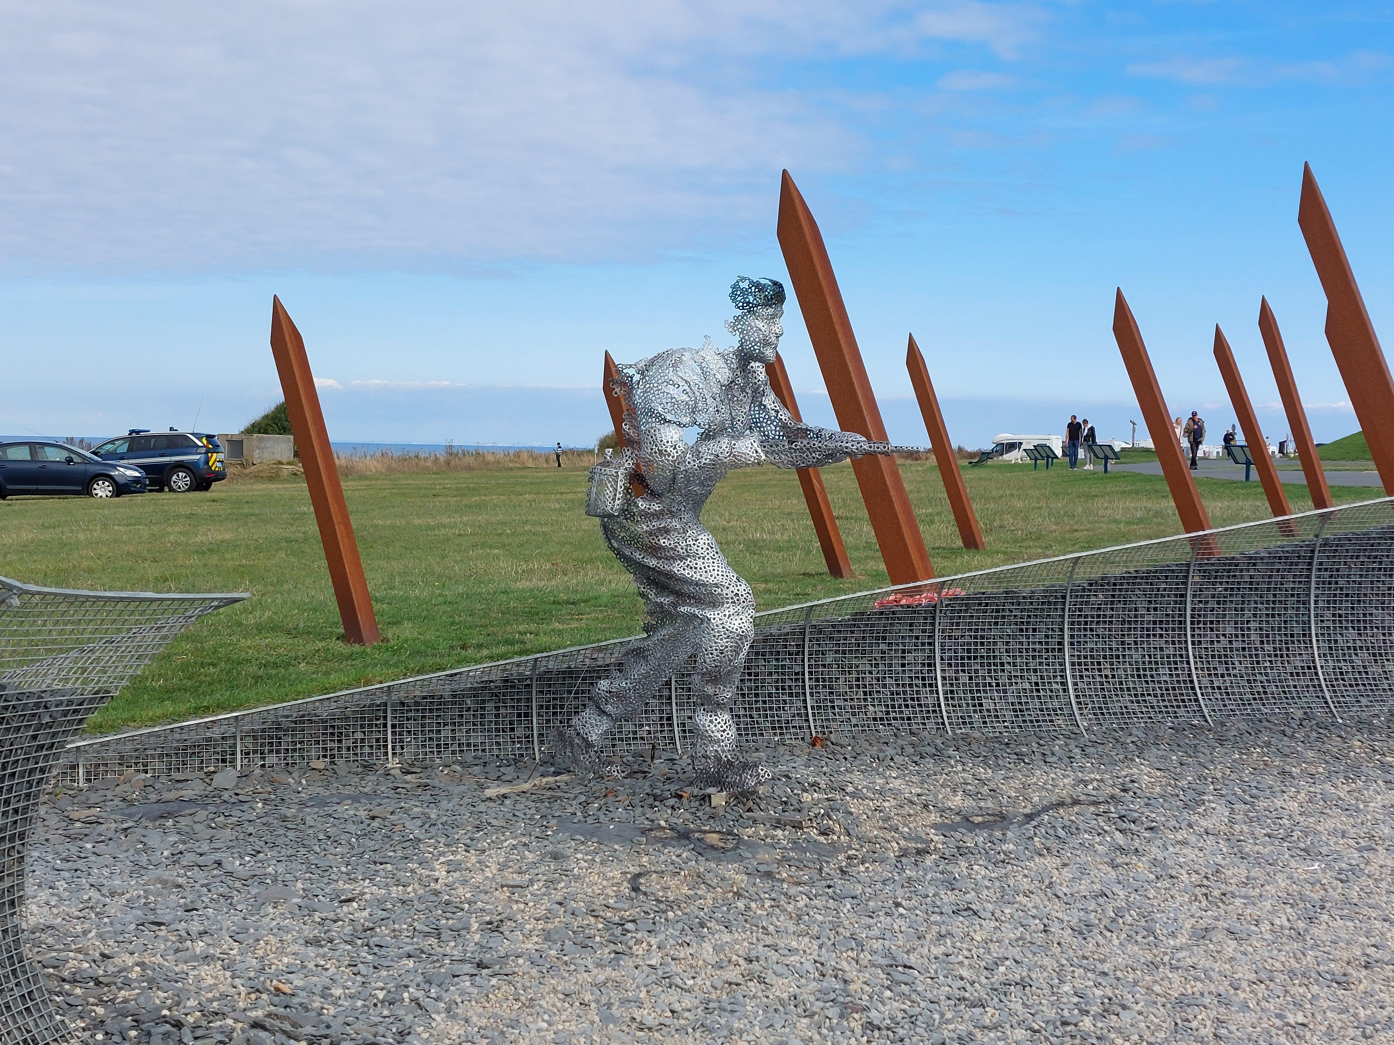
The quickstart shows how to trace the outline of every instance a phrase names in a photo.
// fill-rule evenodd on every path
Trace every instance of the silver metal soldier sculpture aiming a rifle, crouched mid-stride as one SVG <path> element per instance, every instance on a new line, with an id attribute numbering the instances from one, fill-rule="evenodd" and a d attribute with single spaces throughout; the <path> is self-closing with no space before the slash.
<path id="1" fill-rule="evenodd" d="M 730 468 L 815 468 L 899 449 L 795 421 L 765 376 L 783 336 L 783 284 L 742 276 L 730 301 L 735 348 L 722 351 L 708 337 L 697 350 L 659 353 L 620 366 L 611 390 L 625 403 L 627 444 L 591 470 L 585 510 L 599 517 L 605 543 L 634 577 L 645 620 L 644 637 L 555 741 L 581 769 L 609 771 L 601 748 L 616 722 L 637 713 L 696 656 L 697 786 L 746 791 L 769 779 L 764 765 L 740 754 L 730 716 L 756 601 L 703 527 L 703 506 Z M 684 431 L 693 428 L 700 435 L 689 444 Z"/>

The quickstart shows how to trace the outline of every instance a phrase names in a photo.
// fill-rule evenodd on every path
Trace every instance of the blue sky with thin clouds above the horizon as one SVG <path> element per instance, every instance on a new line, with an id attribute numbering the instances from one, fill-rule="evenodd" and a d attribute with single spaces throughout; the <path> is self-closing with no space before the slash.
<path id="1" fill-rule="evenodd" d="M 1310 160 L 1394 323 L 1388 4 L 0 3 L 0 432 L 240 428 L 270 297 L 335 438 L 588 443 L 605 350 L 725 337 L 785 279 L 788 167 L 894 438 L 1138 418 L 1122 286 L 1175 412 L 1232 421 L 1221 323 L 1285 425 L 1356 428 L 1296 227 Z M 831 421 L 796 309 L 783 354 Z M 330 383 L 332 382 L 332 383 Z M 1271 405 L 1264 405 L 1271 404 Z M 1139 418 L 1140 419 L 1140 418 Z"/>

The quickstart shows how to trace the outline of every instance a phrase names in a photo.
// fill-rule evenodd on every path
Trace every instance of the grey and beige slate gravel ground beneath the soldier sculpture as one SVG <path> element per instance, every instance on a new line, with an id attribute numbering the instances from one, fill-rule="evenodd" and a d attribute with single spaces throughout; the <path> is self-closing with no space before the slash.
<path id="1" fill-rule="evenodd" d="M 832 737 L 723 807 L 662 759 L 106 782 L 45 805 L 29 943 L 102 1042 L 1388 1041 L 1390 737 Z"/>

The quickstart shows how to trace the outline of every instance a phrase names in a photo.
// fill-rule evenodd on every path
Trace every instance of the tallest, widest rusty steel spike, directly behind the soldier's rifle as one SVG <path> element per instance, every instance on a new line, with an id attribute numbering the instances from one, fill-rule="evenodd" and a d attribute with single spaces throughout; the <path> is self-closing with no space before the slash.
<path id="1" fill-rule="evenodd" d="M 871 382 L 861 362 L 856 334 L 852 333 L 838 277 L 828 261 L 828 248 L 788 170 L 779 187 L 778 235 L 838 425 L 845 432 L 885 442 L 881 410 L 871 393 Z M 914 518 L 895 458 L 867 454 L 852 463 L 852 471 L 857 477 L 891 584 L 930 580 L 934 567 L 930 566 L 924 535 L 920 534 L 920 524 Z"/>

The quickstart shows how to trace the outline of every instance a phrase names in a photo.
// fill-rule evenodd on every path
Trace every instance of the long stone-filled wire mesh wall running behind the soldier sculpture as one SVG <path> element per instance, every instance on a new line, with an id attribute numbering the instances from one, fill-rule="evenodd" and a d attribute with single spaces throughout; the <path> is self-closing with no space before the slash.
<path id="1" fill-rule="evenodd" d="M 61 777 L 311 761 L 538 758 L 625 641 L 77 741 Z M 1386 709 L 1394 499 L 986 570 L 760 616 L 746 738 L 1083 732 Z M 684 673 L 623 750 L 690 744 Z"/>

